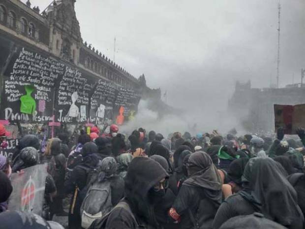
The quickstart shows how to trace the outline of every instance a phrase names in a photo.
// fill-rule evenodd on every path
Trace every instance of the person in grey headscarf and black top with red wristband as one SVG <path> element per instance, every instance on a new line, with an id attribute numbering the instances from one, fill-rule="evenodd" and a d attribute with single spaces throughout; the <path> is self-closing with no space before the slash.
<path id="1" fill-rule="evenodd" d="M 205 152 L 191 154 L 188 159 L 189 178 L 183 182 L 169 211 L 181 229 L 212 228 L 220 206 L 221 178 L 210 156 Z"/>

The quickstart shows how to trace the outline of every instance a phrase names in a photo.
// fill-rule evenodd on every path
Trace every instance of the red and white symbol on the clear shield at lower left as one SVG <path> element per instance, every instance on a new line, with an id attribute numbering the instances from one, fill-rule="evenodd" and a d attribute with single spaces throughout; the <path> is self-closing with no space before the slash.
<path id="1" fill-rule="evenodd" d="M 21 192 L 21 210 L 30 212 L 35 199 L 35 183 L 31 176 Z"/>

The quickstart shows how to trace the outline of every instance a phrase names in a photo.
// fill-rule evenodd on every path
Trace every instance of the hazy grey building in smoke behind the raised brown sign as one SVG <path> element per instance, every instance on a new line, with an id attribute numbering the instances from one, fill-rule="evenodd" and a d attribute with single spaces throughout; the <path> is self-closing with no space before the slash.
<path id="1" fill-rule="evenodd" d="M 230 113 L 241 120 L 247 131 L 274 130 L 274 104 L 296 105 L 305 103 L 305 87 L 287 85 L 285 88 L 251 88 L 248 81 L 236 82 L 235 92 L 228 101 Z"/>

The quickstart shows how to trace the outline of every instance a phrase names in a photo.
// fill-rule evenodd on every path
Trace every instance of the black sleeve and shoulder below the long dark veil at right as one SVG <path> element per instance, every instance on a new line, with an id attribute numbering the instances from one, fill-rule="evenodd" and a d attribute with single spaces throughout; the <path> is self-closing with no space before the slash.
<path id="1" fill-rule="evenodd" d="M 213 229 L 218 229 L 227 220 L 240 215 L 255 212 L 254 206 L 241 195 L 235 194 L 226 198 L 220 205 L 213 222 Z"/>

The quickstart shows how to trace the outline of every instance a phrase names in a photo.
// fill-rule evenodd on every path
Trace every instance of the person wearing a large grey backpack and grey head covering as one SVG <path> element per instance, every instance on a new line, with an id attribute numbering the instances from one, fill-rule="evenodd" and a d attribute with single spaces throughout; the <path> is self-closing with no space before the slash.
<path id="1" fill-rule="evenodd" d="M 95 219 L 106 215 L 124 196 L 124 180 L 116 175 L 117 162 L 113 157 L 103 159 L 92 176 L 81 206 L 82 227 L 87 229 Z"/>

